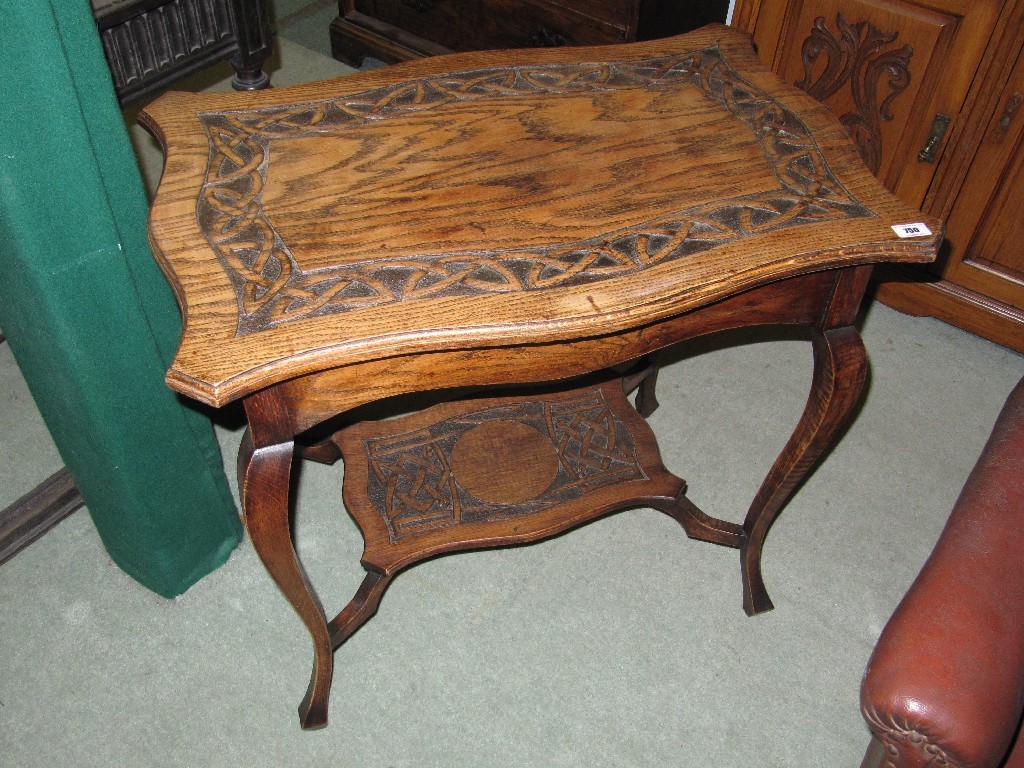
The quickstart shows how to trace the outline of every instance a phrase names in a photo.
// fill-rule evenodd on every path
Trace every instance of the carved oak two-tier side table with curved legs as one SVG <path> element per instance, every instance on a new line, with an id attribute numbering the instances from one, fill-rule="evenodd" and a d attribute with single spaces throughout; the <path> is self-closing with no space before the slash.
<path id="1" fill-rule="evenodd" d="M 770 608 L 765 536 L 865 380 L 870 265 L 930 261 L 941 237 L 725 27 L 170 93 L 141 119 L 166 153 L 150 231 L 185 321 L 167 381 L 245 400 L 248 530 L 313 643 L 307 728 L 327 722 L 334 650 L 438 553 L 653 507 L 737 548 L 746 612 Z M 765 325 L 810 329 L 814 373 L 738 525 L 686 499 L 643 417 L 653 353 Z M 447 396 L 337 421 L 427 391 Z M 330 621 L 291 540 L 297 454 L 343 458 L 366 543 Z"/>

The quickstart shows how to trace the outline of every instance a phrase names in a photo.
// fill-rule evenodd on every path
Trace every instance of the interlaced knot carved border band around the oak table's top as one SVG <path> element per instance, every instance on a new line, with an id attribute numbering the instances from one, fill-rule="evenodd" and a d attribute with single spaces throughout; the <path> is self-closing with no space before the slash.
<path id="1" fill-rule="evenodd" d="M 669 87 L 694 87 L 746 125 L 779 188 L 567 245 L 367 260 L 310 272 L 303 272 L 262 210 L 269 146 L 279 138 L 331 135 L 353 121 L 458 101 Z M 581 285 L 780 227 L 872 215 L 835 178 L 801 120 L 739 77 L 718 48 L 612 63 L 468 71 L 288 109 L 200 117 L 210 161 L 197 217 L 236 288 L 240 335 L 359 307 Z"/>

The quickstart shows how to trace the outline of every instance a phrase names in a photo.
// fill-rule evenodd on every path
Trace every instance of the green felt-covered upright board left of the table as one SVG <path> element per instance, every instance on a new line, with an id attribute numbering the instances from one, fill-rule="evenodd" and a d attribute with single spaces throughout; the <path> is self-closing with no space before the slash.
<path id="1" fill-rule="evenodd" d="M 0 328 L 111 557 L 171 597 L 242 526 L 209 420 L 164 384 L 181 321 L 89 0 L 0 0 Z"/>

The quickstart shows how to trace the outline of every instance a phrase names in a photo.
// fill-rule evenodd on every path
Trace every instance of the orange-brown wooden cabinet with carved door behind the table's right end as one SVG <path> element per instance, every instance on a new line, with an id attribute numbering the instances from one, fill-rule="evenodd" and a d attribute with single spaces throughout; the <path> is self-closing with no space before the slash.
<path id="1" fill-rule="evenodd" d="M 1024 351 L 1024 0 L 737 0 L 733 24 L 946 221 L 941 258 L 874 295 Z"/>

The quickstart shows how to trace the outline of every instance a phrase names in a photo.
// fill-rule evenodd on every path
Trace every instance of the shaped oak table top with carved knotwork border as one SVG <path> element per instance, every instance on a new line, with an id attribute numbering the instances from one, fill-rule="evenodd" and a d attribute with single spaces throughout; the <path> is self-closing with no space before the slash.
<path id="1" fill-rule="evenodd" d="M 168 383 L 214 406 L 338 366 L 616 333 L 810 271 L 930 261 L 941 237 L 726 27 L 169 93 L 141 120 L 166 154 L 151 243 L 184 316 Z"/>

